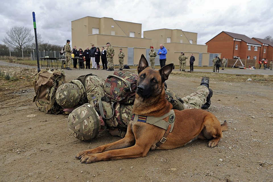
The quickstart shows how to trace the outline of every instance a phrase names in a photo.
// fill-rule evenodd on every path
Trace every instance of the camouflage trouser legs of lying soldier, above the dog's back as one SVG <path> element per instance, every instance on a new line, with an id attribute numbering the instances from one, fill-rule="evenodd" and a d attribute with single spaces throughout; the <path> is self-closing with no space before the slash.
<path id="1" fill-rule="evenodd" d="M 198 86 L 194 93 L 182 98 L 185 109 L 201 109 L 202 105 L 206 103 L 208 94 L 208 87 L 204 85 Z"/>

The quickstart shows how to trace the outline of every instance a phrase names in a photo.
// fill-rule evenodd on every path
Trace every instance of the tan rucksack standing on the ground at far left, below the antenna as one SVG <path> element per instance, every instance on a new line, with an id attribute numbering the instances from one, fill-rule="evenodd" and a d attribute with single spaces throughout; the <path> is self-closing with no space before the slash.
<path id="1" fill-rule="evenodd" d="M 62 69 L 42 69 L 33 80 L 35 102 L 38 109 L 49 114 L 62 113 L 63 108 L 56 102 L 57 88 L 65 83 L 65 72 Z"/>

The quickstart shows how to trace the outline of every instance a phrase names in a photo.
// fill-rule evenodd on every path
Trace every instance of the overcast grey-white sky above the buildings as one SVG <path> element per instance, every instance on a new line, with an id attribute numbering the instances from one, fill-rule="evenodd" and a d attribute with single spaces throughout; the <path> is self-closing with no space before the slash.
<path id="1" fill-rule="evenodd" d="M 13 26 L 26 26 L 34 36 L 32 11 L 43 42 L 61 46 L 71 40 L 71 21 L 85 16 L 141 23 L 142 35 L 160 28 L 196 32 L 201 45 L 222 31 L 273 36 L 272 0 L 9 0 L 1 1 L 0 44 Z"/>

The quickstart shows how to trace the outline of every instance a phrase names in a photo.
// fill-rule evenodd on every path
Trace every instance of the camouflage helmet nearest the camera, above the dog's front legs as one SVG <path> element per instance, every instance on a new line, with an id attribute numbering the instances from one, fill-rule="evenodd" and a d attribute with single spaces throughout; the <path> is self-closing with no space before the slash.
<path id="1" fill-rule="evenodd" d="M 100 130 L 100 116 L 90 104 L 73 110 L 68 116 L 69 131 L 79 140 L 91 140 Z"/>

